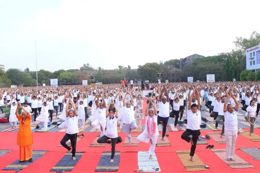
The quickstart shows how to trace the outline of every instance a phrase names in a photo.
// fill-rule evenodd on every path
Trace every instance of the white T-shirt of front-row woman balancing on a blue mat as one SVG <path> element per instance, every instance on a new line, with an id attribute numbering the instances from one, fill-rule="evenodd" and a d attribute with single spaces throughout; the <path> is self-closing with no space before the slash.
<path id="1" fill-rule="evenodd" d="M 110 137 L 110 138 L 116 138 L 118 137 L 117 135 L 117 118 L 114 115 L 113 118 L 110 118 L 110 116 L 108 115 L 106 117 L 106 121 L 107 121 L 107 130 L 106 130 L 106 136 Z"/>

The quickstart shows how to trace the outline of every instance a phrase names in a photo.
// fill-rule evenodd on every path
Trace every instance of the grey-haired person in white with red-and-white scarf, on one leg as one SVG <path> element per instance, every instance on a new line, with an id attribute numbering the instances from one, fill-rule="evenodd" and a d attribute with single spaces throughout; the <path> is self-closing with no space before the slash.
<path id="1" fill-rule="evenodd" d="M 148 105 L 152 103 L 154 109 L 148 109 Z M 145 110 L 145 130 L 136 139 L 140 142 L 151 142 L 150 149 L 148 150 L 150 154 L 150 160 L 153 159 L 153 153 L 155 150 L 157 138 L 159 136 L 158 126 L 157 126 L 157 109 L 152 102 L 152 98 L 149 98 L 148 105 Z M 149 116 L 148 116 L 149 115 Z"/>

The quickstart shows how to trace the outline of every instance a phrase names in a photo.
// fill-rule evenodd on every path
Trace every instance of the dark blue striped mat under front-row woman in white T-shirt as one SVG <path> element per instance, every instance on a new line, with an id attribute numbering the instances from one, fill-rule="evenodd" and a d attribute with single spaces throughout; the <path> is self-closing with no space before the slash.
<path id="1" fill-rule="evenodd" d="M 110 160 L 111 160 L 111 152 L 110 151 L 103 151 L 95 171 L 97 171 L 97 172 L 117 171 L 118 167 L 119 167 L 120 151 L 115 152 L 113 163 L 110 163 Z"/>

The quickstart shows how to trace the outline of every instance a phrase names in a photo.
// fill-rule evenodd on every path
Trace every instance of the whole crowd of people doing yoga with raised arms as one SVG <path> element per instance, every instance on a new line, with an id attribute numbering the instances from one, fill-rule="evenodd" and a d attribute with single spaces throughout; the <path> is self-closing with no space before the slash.
<path id="1" fill-rule="evenodd" d="M 193 156 L 200 135 L 200 109 L 204 102 L 210 110 L 210 116 L 216 120 L 216 127 L 222 124 L 220 137 L 225 134 L 226 157 L 228 161 L 234 161 L 239 97 L 243 104 L 242 110 L 245 111 L 245 120 L 251 125 L 252 135 L 260 108 L 259 86 L 258 82 L 161 83 L 160 79 L 158 83 L 142 80 L 141 84 L 131 80 L 129 85 L 128 80 L 124 79 L 120 84 L 0 88 L 0 108 L 3 112 L 4 102 L 10 105 L 9 121 L 12 128 L 17 126 L 17 121 L 20 122 L 17 145 L 20 146 L 21 161 L 32 159 L 31 115 L 34 115 L 34 123 L 43 122 L 44 130 L 47 130 L 49 117 L 52 122 L 55 110 L 56 117 L 64 120 L 58 128 L 67 129 L 61 144 L 68 149 L 68 153 L 72 151 L 73 160 L 76 159 L 78 123 L 83 127 L 88 119 L 91 126 L 101 129 L 97 142 L 110 144 L 110 162 L 113 162 L 118 138 L 117 123 L 120 123 L 120 128 L 125 127 L 131 144 L 132 130 L 140 128 L 141 120 L 145 117 L 145 129 L 137 140 L 147 143 L 150 141 L 149 159 L 153 159 L 159 136 L 158 125 L 162 125 L 161 140 L 164 141 L 169 117 L 174 118 L 176 127 L 187 108 L 187 128 L 181 138 L 191 143 L 190 160 L 194 162 Z M 144 89 L 150 90 L 145 109 L 142 95 Z M 19 107 L 22 108 L 21 115 L 18 114 Z M 88 112 L 90 107 L 91 112 Z M 72 148 L 66 144 L 67 141 L 71 142 Z"/>

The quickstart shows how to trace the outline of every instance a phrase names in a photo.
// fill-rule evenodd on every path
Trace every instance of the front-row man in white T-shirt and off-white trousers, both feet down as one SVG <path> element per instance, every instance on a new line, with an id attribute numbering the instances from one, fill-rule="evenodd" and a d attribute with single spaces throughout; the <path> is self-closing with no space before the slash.
<path id="1" fill-rule="evenodd" d="M 225 139 L 226 139 L 226 157 L 227 161 L 235 161 L 233 159 L 235 153 L 235 144 L 237 140 L 237 113 L 239 108 L 239 103 L 234 95 L 232 95 L 232 91 L 228 94 L 228 98 L 224 103 L 224 116 L 225 116 Z M 235 109 L 233 105 L 228 104 L 229 99 L 234 99 L 236 106 Z"/>

